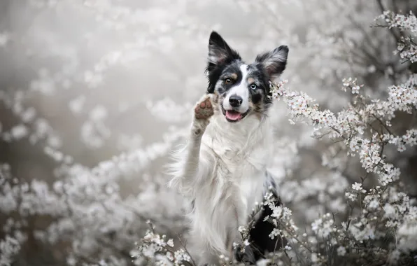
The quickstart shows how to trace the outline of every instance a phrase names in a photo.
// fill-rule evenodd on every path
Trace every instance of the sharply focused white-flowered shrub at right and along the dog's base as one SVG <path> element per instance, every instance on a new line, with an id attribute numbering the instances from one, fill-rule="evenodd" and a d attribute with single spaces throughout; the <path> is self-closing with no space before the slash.
<path id="1" fill-rule="evenodd" d="M 398 27 L 411 34 L 417 32 L 413 13 L 404 16 L 385 12 L 380 18 L 388 23 L 387 27 Z M 402 38 L 398 44 L 401 57 L 409 62 L 415 62 L 417 55 L 414 37 Z M 346 78 L 342 80 L 341 89 L 351 92 L 353 98 L 351 104 L 338 113 L 322 111 L 307 94 L 285 88 L 287 82 L 271 83 L 271 90 L 272 97 L 283 99 L 287 105 L 290 122 L 306 123 L 313 127 L 313 137 L 334 141 L 350 157 L 358 155 L 365 174 L 360 176 L 360 182 L 346 189 L 346 207 L 342 208 L 346 211 L 323 214 L 306 231 L 297 228 L 288 207 L 276 206 L 271 201 L 272 194 L 265 195 L 264 202 L 258 205 L 269 205 L 273 210 L 273 214 L 264 220 L 276 228 L 269 237 L 281 236 L 288 243 L 258 264 L 414 265 L 417 261 L 416 200 L 404 192 L 400 169 L 388 162 L 384 151 L 390 144 L 398 152 L 417 145 L 416 128 L 410 128 L 402 135 L 391 130 L 398 112 L 417 115 L 417 75 L 411 74 L 404 83 L 388 87 L 385 100 L 366 97 L 361 93 L 364 85 L 358 85 L 356 79 Z M 367 179 L 376 179 L 378 183 L 365 189 Z M 249 244 L 250 226 L 251 223 L 239 228 L 243 243 L 236 244 L 235 248 Z M 159 235 L 151 238 L 153 242 L 160 239 Z M 172 257 L 169 260 L 178 264 Z M 186 257 L 185 261 L 190 262 L 190 258 Z M 236 264 L 230 258 L 221 257 L 219 261 L 224 265 Z"/>

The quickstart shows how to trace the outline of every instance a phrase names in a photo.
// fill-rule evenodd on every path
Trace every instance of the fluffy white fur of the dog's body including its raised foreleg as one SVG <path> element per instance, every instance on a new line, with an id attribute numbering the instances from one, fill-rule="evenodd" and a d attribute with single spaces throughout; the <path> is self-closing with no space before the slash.
<path id="1" fill-rule="evenodd" d="M 187 144 L 175 153 L 169 185 L 195 201 L 188 248 L 198 265 L 216 265 L 220 254 L 232 258 L 239 226 L 262 201 L 271 141 L 267 116 L 229 123 L 215 109 L 209 120 L 193 119 Z"/>

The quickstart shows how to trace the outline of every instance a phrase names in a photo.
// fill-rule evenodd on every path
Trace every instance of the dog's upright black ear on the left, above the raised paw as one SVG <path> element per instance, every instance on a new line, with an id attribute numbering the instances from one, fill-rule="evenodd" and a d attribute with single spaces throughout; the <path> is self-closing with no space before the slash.
<path id="1" fill-rule="evenodd" d="M 232 50 L 226 41 L 216 31 L 211 31 L 208 39 L 208 66 L 207 71 L 212 71 L 215 66 L 226 64 L 233 59 L 241 59 L 238 52 Z"/>

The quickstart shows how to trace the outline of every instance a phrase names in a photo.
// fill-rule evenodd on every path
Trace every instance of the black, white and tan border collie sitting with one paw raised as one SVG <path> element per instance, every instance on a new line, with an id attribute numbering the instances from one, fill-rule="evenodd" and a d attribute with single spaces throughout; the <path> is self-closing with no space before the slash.
<path id="1" fill-rule="evenodd" d="M 192 201 L 188 248 L 198 265 L 218 265 L 220 255 L 234 254 L 255 263 L 276 248 L 276 239 L 269 238 L 273 227 L 263 221 L 271 214 L 268 207 L 257 214 L 243 255 L 233 243 L 240 241 L 238 228 L 248 222 L 255 202 L 275 188 L 267 172 L 273 146 L 269 80 L 281 75 L 287 56 L 288 47 L 281 45 L 246 64 L 211 32 L 208 88 L 195 106 L 188 143 L 174 154 L 169 183 Z"/>

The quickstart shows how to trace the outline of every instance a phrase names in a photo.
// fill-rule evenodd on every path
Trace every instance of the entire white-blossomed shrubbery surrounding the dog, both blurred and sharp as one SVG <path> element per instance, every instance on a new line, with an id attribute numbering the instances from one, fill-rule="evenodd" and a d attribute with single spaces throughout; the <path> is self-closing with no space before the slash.
<path id="1" fill-rule="evenodd" d="M 279 36 L 294 51 L 285 76 L 303 90 L 271 84 L 279 102 L 270 170 L 283 205 L 267 194 L 254 214 L 269 205 L 270 237 L 287 241 L 258 263 L 413 265 L 412 1 L 387 1 L 395 12 L 381 1 L 145 2 L 0 3 L 1 18 L 20 21 L 8 29 L 0 20 L 0 61 L 12 73 L 0 69 L 0 265 L 195 264 L 184 236 L 188 203 L 167 188 L 161 165 L 188 133 L 206 85 L 204 59 L 193 59 L 219 27 L 245 55 Z M 219 23 L 208 10 L 241 16 Z M 241 225 L 235 248 L 249 244 L 251 224 Z"/>

